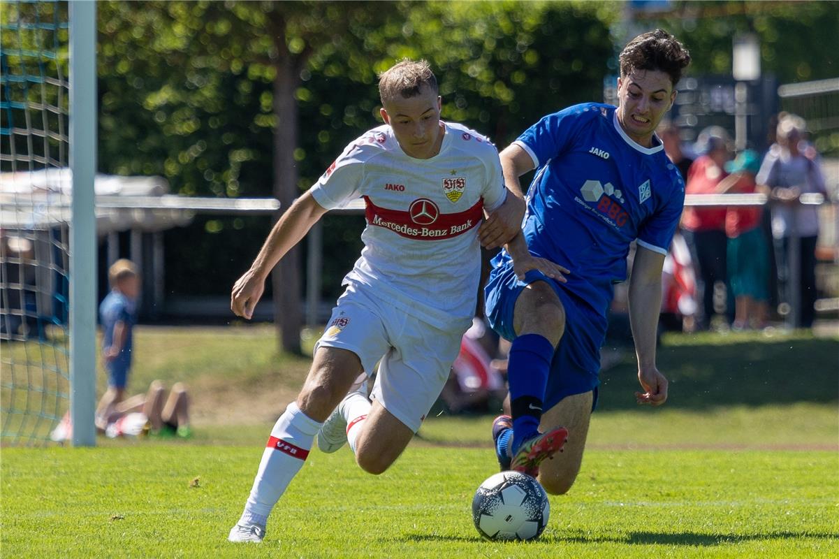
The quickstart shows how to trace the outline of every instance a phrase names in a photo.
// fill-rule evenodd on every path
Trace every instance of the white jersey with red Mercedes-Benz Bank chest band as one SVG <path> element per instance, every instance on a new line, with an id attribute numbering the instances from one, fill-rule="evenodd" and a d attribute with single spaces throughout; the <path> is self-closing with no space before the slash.
<path id="1" fill-rule="evenodd" d="M 442 329 L 468 327 L 475 312 L 482 209 L 506 196 L 498 150 L 460 124 L 444 123 L 440 153 L 406 155 L 388 125 L 357 138 L 312 186 L 327 210 L 364 199 L 361 258 L 344 284 L 361 283 L 400 310 Z"/>

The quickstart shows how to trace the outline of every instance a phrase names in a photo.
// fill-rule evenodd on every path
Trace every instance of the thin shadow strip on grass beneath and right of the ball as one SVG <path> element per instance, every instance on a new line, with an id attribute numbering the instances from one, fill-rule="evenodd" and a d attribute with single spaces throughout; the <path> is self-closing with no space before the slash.
<path id="1" fill-rule="evenodd" d="M 456 541 L 460 543 L 475 543 L 484 541 L 482 537 L 473 535 L 471 537 L 462 535 L 440 535 L 440 534 L 406 534 L 403 541 Z M 769 534 L 701 534 L 696 532 L 682 532 L 680 534 L 664 534 L 659 532 L 632 532 L 622 536 L 596 535 L 562 535 L 552 533 L 542 535 L 535 542 L 541 543 L 624 543 L 633 546 L 723 546 L 736 544 L 741 541 L 763 541 L 763 540 L 839 540 L 839 534 L 813 534 L 808 532 L 770 532 Z M 519 541 L 496 541 L 493 543 L 523 545 L 526 542 Z"/>

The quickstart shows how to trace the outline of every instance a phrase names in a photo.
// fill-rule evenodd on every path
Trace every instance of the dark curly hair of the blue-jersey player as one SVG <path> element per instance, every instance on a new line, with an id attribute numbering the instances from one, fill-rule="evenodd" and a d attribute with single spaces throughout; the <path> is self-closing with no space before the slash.
<path id="1" fill-rule="evenodd" d="M 690 52 L 664 29 L 655 29 L 629 41 L 618 60 L 621 77 L 633 70 L 663 71 L 675 87 L 682 71 L 690 64 Z"/>

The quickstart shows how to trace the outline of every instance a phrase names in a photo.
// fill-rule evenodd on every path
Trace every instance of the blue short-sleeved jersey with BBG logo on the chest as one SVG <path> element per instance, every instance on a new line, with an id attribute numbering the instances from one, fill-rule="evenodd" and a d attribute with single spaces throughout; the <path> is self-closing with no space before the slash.
<path id="1" fill-rule="evenodd" d="M 530 251 L 569 269 L 565 288 L 602 316 L 626 280 L 630 243 L 665 254 L 679 223 L 685 183 L 653 143 L 636 144 L 601 103 L 550 114 L 515 141 L 536 167 L 523 227 Z"/>

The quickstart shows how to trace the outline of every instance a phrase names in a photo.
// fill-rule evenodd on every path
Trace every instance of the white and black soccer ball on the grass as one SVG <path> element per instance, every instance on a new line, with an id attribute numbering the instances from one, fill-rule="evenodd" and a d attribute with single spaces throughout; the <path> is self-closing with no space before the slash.
<path id="1" fill-rule="evenodd" d="M 490 476 L 472 499 L 472 521 L 487 540 L 534 540 L 548 525 L 549 514 L 545 488 L 519 472 Z"/>

